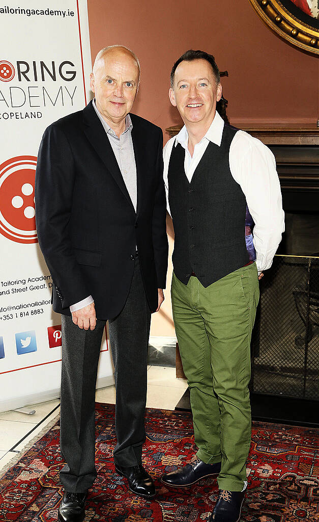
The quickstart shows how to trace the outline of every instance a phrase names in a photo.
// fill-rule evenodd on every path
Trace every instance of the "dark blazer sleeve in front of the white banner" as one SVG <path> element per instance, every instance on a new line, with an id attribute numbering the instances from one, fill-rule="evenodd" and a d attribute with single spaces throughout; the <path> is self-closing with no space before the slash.
<path id="1" fill-rule="evenodd" d="M 69 236 L 76 171 L 69 141 L 58 125 L 43 135 L 35 173 L 35 220 L 44 259 L 62 307 L 82 301 L 85 286 Z"/>

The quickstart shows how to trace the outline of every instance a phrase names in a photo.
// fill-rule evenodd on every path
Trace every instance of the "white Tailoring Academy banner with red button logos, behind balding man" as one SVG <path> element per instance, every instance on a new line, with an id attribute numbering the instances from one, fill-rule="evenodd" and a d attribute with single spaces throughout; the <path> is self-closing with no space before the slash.
<path id="1" fill-rule="evenodd" d="M 59 396 L 60 316 L 35 230 L 45 128 L 90 97 L 86 0 L 0 5 L 0 411 Z M 113 382 L 103 338 L 98 383 Z"/>

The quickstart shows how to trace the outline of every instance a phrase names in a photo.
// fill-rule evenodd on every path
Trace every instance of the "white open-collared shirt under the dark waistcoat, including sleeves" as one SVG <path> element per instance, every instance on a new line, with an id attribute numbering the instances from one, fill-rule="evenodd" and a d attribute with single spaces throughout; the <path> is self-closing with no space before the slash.
<path id="1" fill-rule="evenodd" d="M 174 138 L 164 147 L 164 183 L 168 203 L 168 165 L 171 150 L 179 143 L 185 149 L 184 169 L 191 182 L 195 169 L 203 157 L 210 141 L 220 147 L 224 120 L 216 111 L 214 120 L 201 141 L 195 145 L 193 156 L 188 150 L 188 132 L 184 125 Z M 253 243 L 256 251 L 256 265 L 260 272 L 270 268 L 273 257 L 285 231 L 285 215 L 281 201 L 280 183 L 273 153 L 259 139 L 244 131 L 238 131 L 229 149 L 229 167 L 234 180 L 240 185 L 255 222 Z M 244 223 L 243 223 L 244 233 Z"/>

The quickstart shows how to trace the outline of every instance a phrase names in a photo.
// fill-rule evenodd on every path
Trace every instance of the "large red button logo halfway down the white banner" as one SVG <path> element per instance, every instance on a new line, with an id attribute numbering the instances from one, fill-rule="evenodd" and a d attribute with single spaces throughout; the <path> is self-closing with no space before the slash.
<path id="1" fill-rule="evenodd" d="M 35 156 L 17 156 L 0 165 L 0 233 L 17 243 L 37 243 Z"/>

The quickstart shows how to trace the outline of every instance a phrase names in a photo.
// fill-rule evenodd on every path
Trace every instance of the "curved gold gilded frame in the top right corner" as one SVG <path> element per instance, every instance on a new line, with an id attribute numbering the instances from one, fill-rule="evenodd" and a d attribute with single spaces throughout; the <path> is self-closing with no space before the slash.
<path id="1" fill-rule="evenodd" d="M 290 13 L 289 9 L 279 0 L 250 0 L 250 3 L 260 18 L 282 38 L 304 51 L 319 54 L 319 29 L 317 27 Z M 287 2 L 285 3 L 287 4 Z M 310 17 L 308 18 L 310 19 Z"/>

